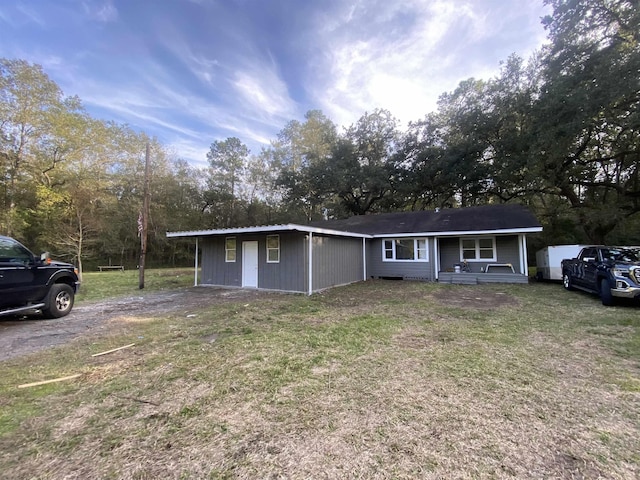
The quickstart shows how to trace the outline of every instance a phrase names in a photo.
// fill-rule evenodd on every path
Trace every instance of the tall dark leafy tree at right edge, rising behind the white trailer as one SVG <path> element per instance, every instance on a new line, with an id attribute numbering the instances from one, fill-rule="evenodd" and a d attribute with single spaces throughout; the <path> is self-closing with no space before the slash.
<path id="1" fill-rule="evenodd" d="M 538 172 L 586 238 L 604 243 L 640 212 L 640 9 L 634 0 L 546 3 Z"/>

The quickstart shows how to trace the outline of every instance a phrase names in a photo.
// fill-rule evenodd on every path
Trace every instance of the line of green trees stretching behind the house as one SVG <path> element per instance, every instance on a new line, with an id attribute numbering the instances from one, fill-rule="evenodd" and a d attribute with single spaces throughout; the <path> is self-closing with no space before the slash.
<path id="1" fill-rule="evenodd" d="M 81 266 L 135 265 L 151 144 L 147 262 L 192 251 L 166 231 L 518 202 L 536 244 L 640 244 L 640 2 L 546 0 L 548 43 L 468 79 L 401 128 L 339 129 L 319 110 L 252 154 L 216 140 L 197 168 L 157 139 L 92 118 L 39 65 L 0 60 L 0 233 Z"/>

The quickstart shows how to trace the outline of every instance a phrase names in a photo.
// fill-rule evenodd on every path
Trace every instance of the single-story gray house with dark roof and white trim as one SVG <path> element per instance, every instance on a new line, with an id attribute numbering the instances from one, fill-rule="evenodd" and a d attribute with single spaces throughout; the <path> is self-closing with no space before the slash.
<path id="1" fill-rule="evenodd" d="M 542 231 L 535 217 L 520 205 L 489 205 L 444 211 L 396 212 L 354 216 L 300 225 L 294 223 L 237 227 L 188 232 L 167 232 L 167 236 L 200 239 L 202 273 L 200 283 L 240 287 L 243 284 L 290 292 L 318 291 L 335 285 L 357 282 L 366 277 L 401 278 L 425 281 L 509 283 L 527 280 L 526 235 Z M 428 232 L 428 233 L 427 233 Z M 475 232 L 475 233 L 474 233 Z M 493 233 L 493 234 L 492 234 Z M 267 262 L 267 238 L 279 235 L 279 258 Z M 225 240 L 236 238 L 236 260 L 225 262 Z M 313 236 L 313 252 L 309 238 Z M 385 257 L 412 257 L 411 246 L 389 244 L 385 239 L 424 239 L 414 245 L 424 261 L 402 261 Z M 460 242 L 471 257 L 485 257 L 495 241 L 494 257 L 469 260 L 468 271 L 455 271 L 460 260 Z M 365 240 L 363 240 L 365 239 Z M 248 247 L 245 242 L 256 242 Z M 365 245 L 363 260 L 363 242 Z M 198 244 L 197 244 L 198 245 Z M 255 250 L 257 245 L 257 254 Z M 272 247 L 273 248 L 273 247 Z M 474 255 L 475 250 L 475 255 Z M 391 254 L 389 254 L 391 252 Z M 243 254 L 248 264 L 243 269 Z M 310 255 L 313 265 L 309 264 Z M 491 265 L 489 271 L 487 266 Z M 243 270 L 247 276 L 243 279 Z M 466 269 L 465 269 L 466 270 Z M 311 278 L 310 278 L 311 277 Z"/>

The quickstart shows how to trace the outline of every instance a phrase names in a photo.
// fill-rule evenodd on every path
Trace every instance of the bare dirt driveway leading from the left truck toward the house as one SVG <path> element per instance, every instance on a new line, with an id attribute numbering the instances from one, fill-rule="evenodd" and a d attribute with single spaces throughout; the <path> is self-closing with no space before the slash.
<path id="1" fill-rule="evenodd" d="M 56 320 L 0 317 L 0 362 L 61 345 L 78 335 L 100 333 L 111 319 L 121 315 L 149 317 L 176 312 L 187 315 L 209 305 L 262 295 L 269 294 L 255 290 L 192 287 L 82 303 L 74 306 L 66 317 Z"/>

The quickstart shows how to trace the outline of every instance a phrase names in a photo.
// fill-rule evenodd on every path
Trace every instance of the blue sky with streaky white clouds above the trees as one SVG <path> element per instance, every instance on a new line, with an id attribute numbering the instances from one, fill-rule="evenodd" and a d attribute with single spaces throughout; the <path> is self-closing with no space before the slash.
<path id="1" fill-rule="evenodd" d="M 0 57 L 42 65 L 89 113 L 204 165 L 215 140 L 259 153 L 320 109 L 401 122 L 545 42 L 542 0 L 12 0 Z"/>

